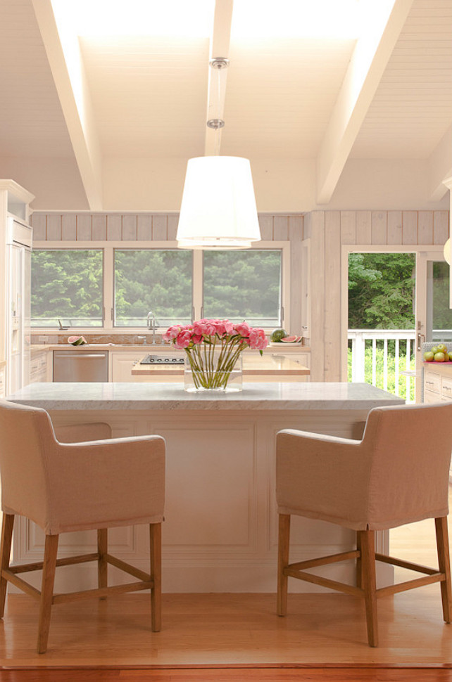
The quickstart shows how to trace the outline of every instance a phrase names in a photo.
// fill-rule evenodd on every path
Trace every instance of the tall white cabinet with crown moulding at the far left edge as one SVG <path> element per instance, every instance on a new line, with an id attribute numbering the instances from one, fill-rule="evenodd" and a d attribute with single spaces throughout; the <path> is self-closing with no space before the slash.
<path id="1" fill-rule="evenodd" d="M 15 181 L 0 180 L 0 397 L 28 383 L 33 199 Z"/>

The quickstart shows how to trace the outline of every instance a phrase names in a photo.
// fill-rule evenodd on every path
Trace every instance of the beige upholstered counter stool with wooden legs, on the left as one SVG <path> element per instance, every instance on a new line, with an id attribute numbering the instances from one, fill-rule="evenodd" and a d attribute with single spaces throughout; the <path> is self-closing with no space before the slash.
<path id="1" fill-rule="evenodd" d="M 78 436 L 85 442 L 74 442 Z M 86 593 L 54 595 L 58 565 L 96 560 L 99 589 L 89 596 L 109 592 L 151 590 L 151 626 L 161 627 L 161 522 L 165 504 L 165 441 L 160 436 L 104 440 L 111 435 L 106 424 L 85 424 L 56 430 L 49 414 L 0 401 L 1 536 L 0 617 L 4 614 L 6 584 L 11 581 L 40 600 L 38 652 L 46 651 L 52 603 L 87 596 Z M 96 440 L 89 440 L 93 437 Z M 42 589 L 34 590 L 19 573 L 36 570 L 37 564 L 10 566 L 15 515 L 34 521 L 46 534 Z M 149 524 L 151 571 L 147 574 L 108 554 L 107 529 Z M 57 560 L 58 535 L 97 529 L 98 551 L 92 555 Z M 138 579 L 123 586 L 107 587 L 107 565 L 115 565 Z"/>

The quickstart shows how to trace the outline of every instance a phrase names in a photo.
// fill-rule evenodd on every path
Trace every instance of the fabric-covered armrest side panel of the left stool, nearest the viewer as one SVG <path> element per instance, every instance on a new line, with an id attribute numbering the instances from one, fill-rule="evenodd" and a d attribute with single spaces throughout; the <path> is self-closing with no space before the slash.
<path id="1" fill-rule="evenodd" d="M 160 436 L 55 442 L 46 475 L 50 534 L 99 528 L 103 522 L 125 525 L 125 519 L 131 524 L 163 519 L 165 441 Z"/>

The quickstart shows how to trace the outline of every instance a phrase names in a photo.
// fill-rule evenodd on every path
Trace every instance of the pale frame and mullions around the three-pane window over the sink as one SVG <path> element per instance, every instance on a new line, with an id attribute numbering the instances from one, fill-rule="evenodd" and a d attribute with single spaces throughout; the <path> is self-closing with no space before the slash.
<path id="1" fill-rule="evenodd" d="M 124 241 L 124 240 L 89 240 L 89 241 L 42 241 L 39 245 L 34 245 L 35 251 L 54 251 L 54 250 L 102 250 L 103 251 L 103 326 L 101 327 L 77 327 L 77 333 L 100 334 L 142 334 L 143 327 L 116 327 L 113 326 L 114 314 L 114 251 L 117 250 L 162 250 L 177 248 L 176 241 Z M 263 251 L 281 251 L 281 313 L 282 326 L 290 328 L 290 291 L 291 291 L 291 271 L 290 271 L 290 241 L 260 241 L 251 247 L 252 249 Z M 201 319 L 203 306 L 203 252 L 194 250 L 193 255 L 193 284 L 192 284 L 192 319 Z M 32 328 L 40 333 L 49 333 L 51 327 Z M 57 328 L 58 329 L 58 328 Z M 72 329 L 72 328 L 70 328 Z M 270 333 L 270 328 L 264 328 L 266 333 Z M 161 334 L 165 328 L 157 328 L 156 332 Z"/>

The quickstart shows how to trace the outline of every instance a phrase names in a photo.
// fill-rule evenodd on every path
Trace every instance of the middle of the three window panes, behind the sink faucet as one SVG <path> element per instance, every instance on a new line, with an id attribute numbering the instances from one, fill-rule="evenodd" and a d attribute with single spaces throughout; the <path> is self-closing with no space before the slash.
<path id="1" fill-rule="evenodd" d="M 144 327 L 152 311 L 157 327 L 192 320 L 192 252 L 118 250 L 114 254 L 117 327 Z"/>

